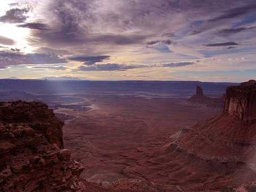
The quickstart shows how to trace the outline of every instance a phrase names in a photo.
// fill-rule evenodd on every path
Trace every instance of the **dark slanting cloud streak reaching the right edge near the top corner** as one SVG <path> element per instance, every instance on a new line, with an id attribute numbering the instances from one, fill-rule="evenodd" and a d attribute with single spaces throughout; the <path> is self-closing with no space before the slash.
<path id="1" fill-rule="evenodd" d="M 246 6 L 242 6 L 242 7 L 236 7 L 236 8 L 232 8 L 230 10 L 224 11 L 224 13 L 214 19 L 210 19 L 210 22 L 214 22 L 214 21 L 220 21 L 223 19 L 232 19 L 232 18 L 236 18 L 238 16 L 241 15 L 245 15 L 251 12 L 255 12 L 256 11 L 256 4 L 251 4 L 251 5 L 246 5 Z"/>

